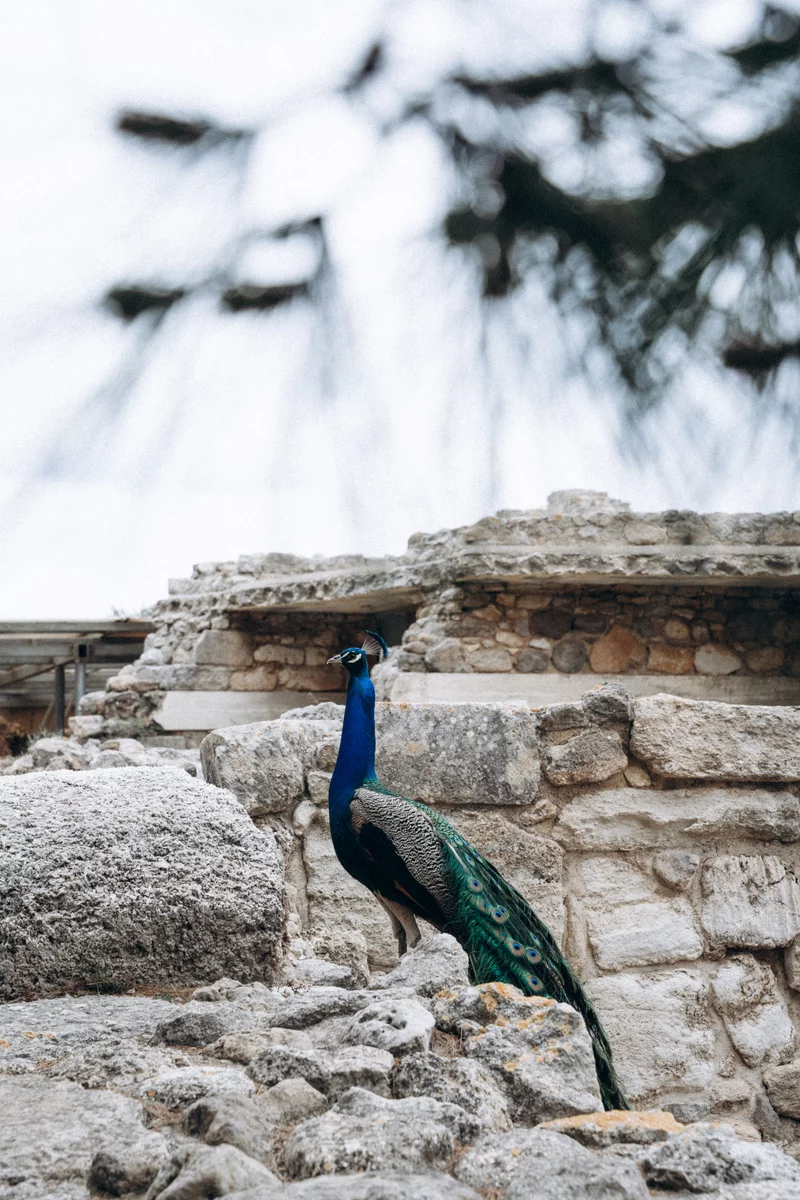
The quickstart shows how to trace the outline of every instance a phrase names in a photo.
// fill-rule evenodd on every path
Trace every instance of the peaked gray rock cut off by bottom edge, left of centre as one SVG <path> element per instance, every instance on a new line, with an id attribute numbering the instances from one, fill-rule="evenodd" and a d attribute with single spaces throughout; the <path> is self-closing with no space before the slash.
<path id="1" fill-rule="evenodd" d="M 146 1200 L 201 1200 L 277 1182 L 266 1166 L 235 1146 L 180 1147 L 160 1169 Z"/>

